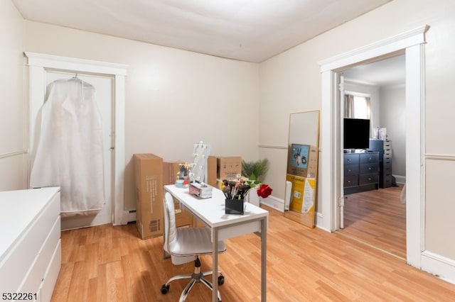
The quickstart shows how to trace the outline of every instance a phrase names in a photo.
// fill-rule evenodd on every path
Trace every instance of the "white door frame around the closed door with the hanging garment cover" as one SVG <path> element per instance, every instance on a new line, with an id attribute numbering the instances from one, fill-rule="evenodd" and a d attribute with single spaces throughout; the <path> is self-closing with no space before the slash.
<path id="1" fill-rule="evenodd" d="M 45 55 L 36 52 L 24 52 L 28 62 L 28 157 L 30 171 L 31 149 L 34 135 L 33 125 L 36 124 L 38 112 L 45 99 L 45 71 L 46 69 L 60 69 L 74 73 L 104 74 L 114 78 L 114 160 L 112 173 L 112 223 L 121 225 L 125 223 L 124 216 L 124 169 L 125 169 L 125 144 L 124 144 L 124 104 L 125 104 L 125 77 L 127 65 L 82 60 L 73 57 L 60 57 Z M 30 173 L 28 173 L 30 174 Z"/>

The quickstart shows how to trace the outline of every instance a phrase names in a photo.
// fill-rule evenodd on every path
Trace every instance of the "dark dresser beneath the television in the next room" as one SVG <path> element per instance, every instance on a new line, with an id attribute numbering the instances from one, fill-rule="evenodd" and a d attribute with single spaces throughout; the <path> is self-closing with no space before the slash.
<path id="1" fill-rule="evenodd" d="M 379 187 L 379 152 L 344 153 L 343 191 L 353 194 Z"/>

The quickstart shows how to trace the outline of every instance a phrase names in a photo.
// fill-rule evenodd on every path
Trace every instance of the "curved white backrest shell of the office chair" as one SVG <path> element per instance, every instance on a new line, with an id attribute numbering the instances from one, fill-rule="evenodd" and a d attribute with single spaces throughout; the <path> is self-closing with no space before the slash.
<path id="1" fill-rule="evenodd" d="M 173 197 L 169 192 L 164 194 L 164 250 L 171 254 L 173 264 L 183 264 L 196 259 L 195 256 L 178 256 L 173 253 L 173 247 L 179 244 L 176 227 L 176 210 Z"/>

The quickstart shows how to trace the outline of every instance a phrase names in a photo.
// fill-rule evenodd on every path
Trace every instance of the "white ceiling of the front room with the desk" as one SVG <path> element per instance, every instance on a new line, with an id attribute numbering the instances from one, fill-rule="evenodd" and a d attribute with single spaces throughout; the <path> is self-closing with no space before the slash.
<path id="1" fill-rule="evenodd" d="M 262 62 L 392 0 L 11 0 L 29 21 Z"/>

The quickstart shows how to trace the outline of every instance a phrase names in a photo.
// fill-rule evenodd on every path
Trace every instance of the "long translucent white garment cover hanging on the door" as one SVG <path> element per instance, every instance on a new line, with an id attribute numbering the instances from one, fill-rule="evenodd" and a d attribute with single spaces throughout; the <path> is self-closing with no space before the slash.
<path id="1" fill-rule="evenodd" d="M 78 78 L 51 83 L 30 186 L 60 186 L 62 216 L 97 213 L 105 201 L 102 149 L 95 87 Z"/>

